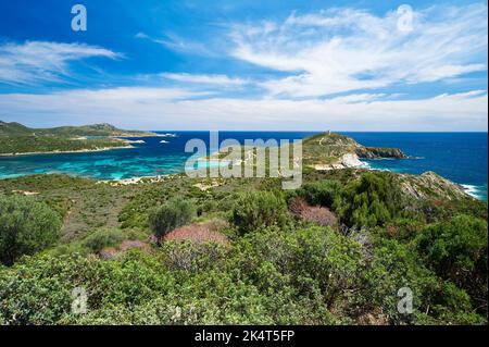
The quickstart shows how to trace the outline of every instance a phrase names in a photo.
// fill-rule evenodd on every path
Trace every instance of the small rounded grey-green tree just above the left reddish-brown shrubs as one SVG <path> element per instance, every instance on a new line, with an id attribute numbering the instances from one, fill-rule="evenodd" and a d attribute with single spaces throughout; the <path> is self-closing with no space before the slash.
<path id="1" fill-rule="evenodd" d="M 160 243 L 167 233 L 188 224 L 195 215 L 196 208 L 190 201 L 175 198 L 150 212 L 149 225 Z"/>

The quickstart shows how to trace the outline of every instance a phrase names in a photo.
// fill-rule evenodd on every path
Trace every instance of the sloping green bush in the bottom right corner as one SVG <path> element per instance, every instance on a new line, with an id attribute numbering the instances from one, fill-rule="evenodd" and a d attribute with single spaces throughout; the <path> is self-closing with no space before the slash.
<path id="1" fill-rule="evenodd" d="M 390 324 L 484 324 L 485 318 L 473 310 L 467 293 L 438 277 L 423 264 L 408 245 L 394 239 L 378 239 L 365 273 L 366 286 L 359 294 L 359 307 L 376 307 Z M 398 311 L 398 290 L 413 293 L 413 313 Z"/>

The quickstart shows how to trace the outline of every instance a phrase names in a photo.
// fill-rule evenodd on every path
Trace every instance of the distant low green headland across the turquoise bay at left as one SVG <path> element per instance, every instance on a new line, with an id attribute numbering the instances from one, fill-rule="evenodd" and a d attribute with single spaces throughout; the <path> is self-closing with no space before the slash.
<path id="1" fill-rule="evenodd" d="M 155 133 L 123 131 L 106 123 L 84 126 L 30 128 L 0 121 L 0 156 L 66 153 L 130 148 L 121 137 L 158 136 Z"/>

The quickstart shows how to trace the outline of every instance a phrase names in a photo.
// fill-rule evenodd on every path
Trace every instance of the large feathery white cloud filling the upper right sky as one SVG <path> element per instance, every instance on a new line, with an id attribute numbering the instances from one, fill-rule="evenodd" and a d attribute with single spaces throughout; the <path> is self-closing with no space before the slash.
<path id="1" fill-rule="evenodd" d="M 430 8 L 399 16 L 333 9 L 283 23 L 236 25 L 234 57 L 289 73 L 261 85 L 272 95 L 317 97 L 438 82 L 487 70 L 487 5 Z"/>

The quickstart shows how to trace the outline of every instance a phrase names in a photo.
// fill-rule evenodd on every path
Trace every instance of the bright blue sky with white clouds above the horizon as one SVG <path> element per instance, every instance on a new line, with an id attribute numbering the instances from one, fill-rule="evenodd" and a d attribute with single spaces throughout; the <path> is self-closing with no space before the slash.
<path id="1" fill-rule="evenodd" d="M 487 131 L 487 16 L 478 1 L 2 1 L 0 120 Z"/>

